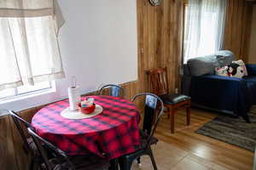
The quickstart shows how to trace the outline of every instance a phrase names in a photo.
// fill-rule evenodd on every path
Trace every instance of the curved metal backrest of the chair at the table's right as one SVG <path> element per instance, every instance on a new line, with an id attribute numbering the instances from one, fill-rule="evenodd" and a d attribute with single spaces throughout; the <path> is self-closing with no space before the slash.
<path id="1" fill-rule="evenodd" d="M 151 123 L 149 123 L 149 131 L 150 132 L 146 132 L 148 133 L 148 141 L 146 144 L 146 148 L 149 146 L 149 142 L 150 140 L 153 138 L 154 136 L 154 132 L 156 127 L 158 126 L 159 122 L 160 122 L 160 117 L 164 115 L 164 103 L 163 101 L 155 94 L 150 94 L 150 93 L 143 93 L 143 94 L 137 94 L 135 95 L 131 101 L 134 102 L 138 97 L 142 97 L 145 96 L 146 97 L 146 101 L 145 101 L 145 108 L 146 107 L 151 107 L 151 109 L 153 110 L 153 116 L 151 116 Z M 151 97 L 151 98 L 150 98 Z M 148 99 L 147 99 L 148 98 Z M 157 111 L 159 110 L 159 111 Z M 148 121 L 148 117 L 149 116 L 146 114 L 146 112 L 144 113 L 144 118 L 143 118 L 143 130 L 145 132 L 145 130 L 148 131 L 148 128 L 145 129 L 145 121 Z"/>

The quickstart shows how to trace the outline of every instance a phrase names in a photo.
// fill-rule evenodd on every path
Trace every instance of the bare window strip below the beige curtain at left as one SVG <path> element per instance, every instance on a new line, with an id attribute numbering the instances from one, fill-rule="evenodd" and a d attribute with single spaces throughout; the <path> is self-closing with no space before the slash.
<path id="1" fill-rule="evenodd" d="M 26 85 L 18 88 L 7 88 L 0 91 L 0 101 L 15 99 L 18 96 L 25 96 L 34 93 L 44 92 L 52 88 L 52 82 L 38 82 L 34 86 Z"/>

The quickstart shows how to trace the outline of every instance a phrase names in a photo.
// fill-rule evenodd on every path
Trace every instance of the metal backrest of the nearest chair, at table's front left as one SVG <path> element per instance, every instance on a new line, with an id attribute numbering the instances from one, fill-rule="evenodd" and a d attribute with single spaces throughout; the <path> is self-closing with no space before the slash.
<path id="1" fill-rule="evenodd" d="M 75 170 L 73 163 L 69 160 L 68 156 L 65 154 L 64 151 L 57 148 L 54 144 L 50 144 L 47 140 L 41 138 L 37 133 L 34 132 L 32 127 L 28 127 L 27 131 L 32 136 L 32 139 L 38 148 L 38 152 L 40 153 L 40 155 L 42 156 L 42 158 L 44 160 L 44 164 L 45 164 L 45 167 L 47 170 L 53 170 L 54 167 L 52 167 L 51 164 L 49 163 L 49 158 L 47 156 L 47 150 L 45 149 L 46 147 L 47 147 L 47 149 L 52 150 L 57 155 L 55 157 L 56 159 L 60 158 L 58 156 L 64 157 L 65 161 L 67 161 L 67 163 L 68 163 L 69 169 Z M 46 147 L 43 147 L 42 144 L 45 144 Z"/>

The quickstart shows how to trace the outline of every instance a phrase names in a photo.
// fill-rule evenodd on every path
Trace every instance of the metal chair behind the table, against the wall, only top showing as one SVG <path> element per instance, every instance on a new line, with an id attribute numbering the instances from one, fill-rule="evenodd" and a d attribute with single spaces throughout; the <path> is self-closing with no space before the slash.
<path id="1" fill-rule="evenodd" d="M 98 95 L 102 95 L 103 91 L 109 89 L 109 95 L 113 97 L 125 97 L 125 90 L 124 88 L 120 87 L 119 85 L 115 84 L 107 84 L 104 85 L 102 88 L 98 90 Z"/>

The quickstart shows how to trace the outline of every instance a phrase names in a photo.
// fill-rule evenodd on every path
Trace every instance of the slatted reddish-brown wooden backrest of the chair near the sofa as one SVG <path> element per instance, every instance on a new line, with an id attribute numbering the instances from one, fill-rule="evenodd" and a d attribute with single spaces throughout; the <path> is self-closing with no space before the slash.
<path id="1" fill-rule="evenodd" d="M 154 94 L 168 94 L 167 68 L 157 68 L 146 71 L 148 75 L 148 90 Z"/>

